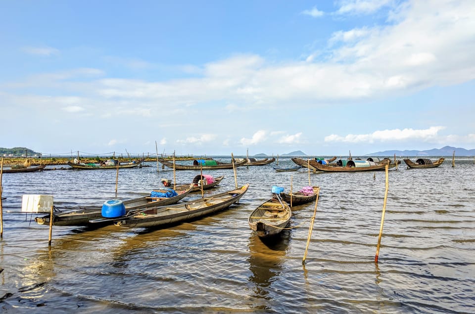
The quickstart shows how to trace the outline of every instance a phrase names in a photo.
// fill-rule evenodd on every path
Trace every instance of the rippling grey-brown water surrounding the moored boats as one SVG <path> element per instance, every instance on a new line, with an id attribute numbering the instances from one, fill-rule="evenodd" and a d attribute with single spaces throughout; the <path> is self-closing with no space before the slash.
<path id="1" fill-rule="evenodd" d="M 173 179 L 173 170 L 147 165 L 119 172 L 119 197 Z M 306 170 L 277 173 L 273 165 L 239 167 L 238 184 L 249 182 L 249 190 L 217 215 L 159 230 L 53 227 L 50 250 L 39 215 L 7 211 L 20 210 L 22 194 L 101 205 L 115 196 L 116 172 L 3 174 L 0 312 L 475 313 L 473 157 L 456 158 L 455 168 L 448 158 L 435 169 L 389 170 L 378 267 L 384 171 L 310 174 L 321 192 L 303 266 L 315 203 L 294 207 L 291 228 L 274 243 L 247 225 L 272 185 L 309 184 Z M 232 169 L 203 173 L 226 176 L 211 193 L 235 186 Z M 197 174 L 177 171 L 176 180 Z"/>

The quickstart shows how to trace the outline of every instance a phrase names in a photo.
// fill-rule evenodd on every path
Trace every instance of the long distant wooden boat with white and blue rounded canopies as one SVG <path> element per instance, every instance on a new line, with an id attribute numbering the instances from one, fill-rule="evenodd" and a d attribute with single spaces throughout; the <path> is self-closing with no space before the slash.
<path id="1" fill-rule="evenodd" d="M 361 172 L 361 171 L 378 171 L 385 170 L 386 164 L 388 168 L 396 167 L 395 163 L 390 163 L 389 160 L 376 164 L 367 160 L 345 160 L 340 159 L 336 162 L 336 166 L 322 165 L 314 160 L 310 160 L 310 166 L 314 167 L 317 171 L 324 172 Z"/>

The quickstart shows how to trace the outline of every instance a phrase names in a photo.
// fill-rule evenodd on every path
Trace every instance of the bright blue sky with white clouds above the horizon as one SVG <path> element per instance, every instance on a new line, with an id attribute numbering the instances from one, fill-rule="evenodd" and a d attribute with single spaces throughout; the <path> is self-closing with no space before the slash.
<path id="1" fill-rule="evenodd" d="M 475 148 L 473 0 L 2 0 L 0 147 Z"/>

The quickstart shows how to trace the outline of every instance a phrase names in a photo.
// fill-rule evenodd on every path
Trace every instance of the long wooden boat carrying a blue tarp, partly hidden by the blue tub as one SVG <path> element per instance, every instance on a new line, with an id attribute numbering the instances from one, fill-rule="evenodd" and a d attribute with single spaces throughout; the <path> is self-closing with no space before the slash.
<path id="1" fill-rule="evenodd" d="M 176 186 L 176 193 L 178 195 L 172 197 L 153 197 L 142 196 L 124 201 L 126 211 L 134 212 L 140 211 L 147 207 L 165 206 L 178 203 L 184 199 L 193 189 L 193 184 L 184 184 Z M 156 189 L 154 191 L 166 192 L 169 189 Z M 151 195 L 151 194 L 150 194 Z M 94 207 L 56 207 L 54 206 L 53 212 L 53 224 L 54 225 L 90 225 L 89 221 L 102 219 L 102 206 Z M 49 214 L 43 217 L 36 217 L 35 222 L 38 224 L 49 224 Z M 102 222 L 107 223 L 107 222 Z M 112 224 L 112 220 L 109 220 L 107 224 Z"/>

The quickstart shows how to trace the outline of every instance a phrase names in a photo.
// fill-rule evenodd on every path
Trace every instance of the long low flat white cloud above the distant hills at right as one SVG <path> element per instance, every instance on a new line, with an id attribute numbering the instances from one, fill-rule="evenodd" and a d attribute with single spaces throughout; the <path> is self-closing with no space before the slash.
<path id="1" fill-rule="evenodd" d="M 445 127 L 430 127 L 425 130 L 414 129 L 394 129 L 375 131 L 372 134 L 348 134 L 345 136 L 328 135 L 325 136 L 326 142 L 347 142 L 347 143 L 374 143 L 375 141 L 402 141 L 410 139 L 430 140 L 437 137 L 438 132 L 444 130 Z"/>

